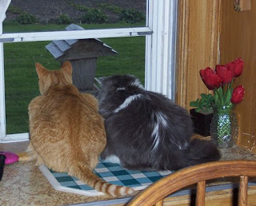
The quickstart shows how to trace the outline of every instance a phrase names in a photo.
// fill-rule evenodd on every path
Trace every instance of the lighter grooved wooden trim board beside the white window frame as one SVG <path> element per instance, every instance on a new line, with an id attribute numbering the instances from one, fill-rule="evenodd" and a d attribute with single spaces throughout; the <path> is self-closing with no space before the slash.
<path id="1" fill-rule="evenodd" d="M 208 93 L 199 70 L 218 62 L 220 1 L 178 1 L 178 65 L 176 102 L 190 109 L 200 93 Z"/>

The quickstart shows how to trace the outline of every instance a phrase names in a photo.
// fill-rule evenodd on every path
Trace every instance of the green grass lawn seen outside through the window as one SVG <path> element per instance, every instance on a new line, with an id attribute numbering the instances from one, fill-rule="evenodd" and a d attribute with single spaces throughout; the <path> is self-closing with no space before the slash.
<path id="1" fill-rule="evenodd" d="M 82 25 L 84 28 L 109 28 L 110 25 Z M 128 24 L 115 24 L 111 27 L 128 27 Z M 135 25 L 136 26 L 136 25 Z M 66 26 L 4 25 L 4 32 L 28 32 L 64 30 Z M 97 77 L 116 73 L 131 73 L 144 83 L 145 38 L 104 38 L 107 45 L 118 51 L 113 57 L 100 57 L 97 62 Z M 6 130 L 7 133 L 27 133 L 27 106 L 39 95 L 38 77 L 34 63 L 40 62 L 48 69 L 58 69 L 60 64 L 45 49 L 49 42 L 5 43 L 5 85 L 6 85 Z"/>

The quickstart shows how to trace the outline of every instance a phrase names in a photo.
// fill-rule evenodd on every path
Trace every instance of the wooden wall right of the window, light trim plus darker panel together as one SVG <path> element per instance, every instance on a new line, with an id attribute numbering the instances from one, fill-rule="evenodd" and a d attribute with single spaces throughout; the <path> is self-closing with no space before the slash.
<path id="1" fill-rule="evenodd" d="M 241 12 L 234 10 L 234 0 L 178 2 L 176 102 L 190 109 L 190 101 L 208 93 L 200 69 L 242 57 L 245 68 L 234 82 L 246 89 L 245 99 L 236 107 L 238 145 L 256 153 L 256 1 Z"/>

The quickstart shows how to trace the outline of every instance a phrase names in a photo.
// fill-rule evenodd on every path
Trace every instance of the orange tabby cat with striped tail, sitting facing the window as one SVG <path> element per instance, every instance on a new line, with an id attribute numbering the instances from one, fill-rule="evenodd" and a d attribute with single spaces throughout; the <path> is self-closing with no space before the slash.
<path id="1" fill-rule="evenodd" d="M 109 184 L 92 172 L 106 146 L 104 121 L 98 101 L 79 93 L 72 84 L 72 66 L 66 61 L 59 70 L 49 71 L 36 63 L 41 96 L 29 105 L 30 145 L 37 165 L 56 172 L 68 172 L 110 196 L 132 194 L 132 188 Z"/>

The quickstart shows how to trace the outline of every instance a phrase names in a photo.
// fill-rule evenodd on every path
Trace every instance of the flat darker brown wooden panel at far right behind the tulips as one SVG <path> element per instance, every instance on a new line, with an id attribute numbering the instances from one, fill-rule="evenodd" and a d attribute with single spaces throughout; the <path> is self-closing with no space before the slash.
<path id="1" fill-rule="evenodd" d="M 238 145 L 256 153 L 256 1 L 251 9 L 234 11 L 234 1 L 222 1 L 220 28 L 220 63 L 242 57 L 245 67 L 234 85 L 243 85 L 245 98 L 236 108 Z"/>

